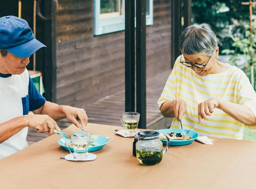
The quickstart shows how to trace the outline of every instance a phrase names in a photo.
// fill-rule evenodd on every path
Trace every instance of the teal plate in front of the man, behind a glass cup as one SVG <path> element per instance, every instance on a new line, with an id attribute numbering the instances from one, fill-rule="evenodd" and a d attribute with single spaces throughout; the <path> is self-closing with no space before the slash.
<path id="1" fill-rule="evenodd" d="M 90 144 L 95 146 L 89 147 L 89 152 L 100 150 L 106 145 L 107 142 L 109 142 L 109 139 L 106 137 L 103 137 L 100 135 L 91 135 L 91 136 L 94 137 L 94 141 L 91 142 Z M 58 140 L 58 144 L 61 145 L 61 147 L 64 148 L 65 150 L 68 150 L 67 147 L 65 146 L 65 142 L 67 140 L 70 140 L 70 139 L 61 138 Z M 74 151 L 73 147 L 69 147 L 69 149 L 71 151 Z"/>

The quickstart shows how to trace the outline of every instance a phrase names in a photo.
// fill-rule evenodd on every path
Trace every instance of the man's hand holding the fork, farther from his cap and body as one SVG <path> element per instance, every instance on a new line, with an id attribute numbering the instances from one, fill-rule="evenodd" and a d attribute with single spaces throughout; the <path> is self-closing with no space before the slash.
<path id="1" fill-rule="evenodd" d="M 84 109 L 74 108 L 71 106 L 64 106 L 63 111 L 66 114 L 66 117 L 71 121 L 75 126 L 80 128 L 81 126 L 85 127 L 88 123 L 88 117 Z M 82 125 L 79 124 L 78 119 L 81 121 Z"/>

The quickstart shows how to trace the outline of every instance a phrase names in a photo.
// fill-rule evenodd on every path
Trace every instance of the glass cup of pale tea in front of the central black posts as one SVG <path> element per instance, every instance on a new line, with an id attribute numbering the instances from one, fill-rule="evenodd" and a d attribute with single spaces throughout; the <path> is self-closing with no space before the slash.
<path id="1" fill-rule="evenodd" d="M 139 113 L 125 112 L 121 116 L 121 123 L 127 134 L 134 134 L 138 129 Z"/>

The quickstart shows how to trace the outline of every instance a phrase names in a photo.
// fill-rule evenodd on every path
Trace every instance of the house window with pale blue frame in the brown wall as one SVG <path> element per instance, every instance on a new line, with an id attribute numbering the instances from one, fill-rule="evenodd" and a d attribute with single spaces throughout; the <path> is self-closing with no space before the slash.
<path id="1" fill-rule="evenodd" d="M 146 25 L 152 24 L 153 0 L 146 0 Z M 125 0 L 94 0 L 94 35 L 122 30 L 125 30 Z"/>

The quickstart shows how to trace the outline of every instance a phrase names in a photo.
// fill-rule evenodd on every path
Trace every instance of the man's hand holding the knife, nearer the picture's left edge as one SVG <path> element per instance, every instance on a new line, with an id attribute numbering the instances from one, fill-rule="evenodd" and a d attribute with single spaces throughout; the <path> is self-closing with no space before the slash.
<path id="1" fill-rule="evenodd" d="M 53 130 L 61 131 L 57 123 L 48 115 L 25 115 L 26 125 L 36 129 L 38 133 L 49 132 L 48 136 L 53 134 Z"/>

